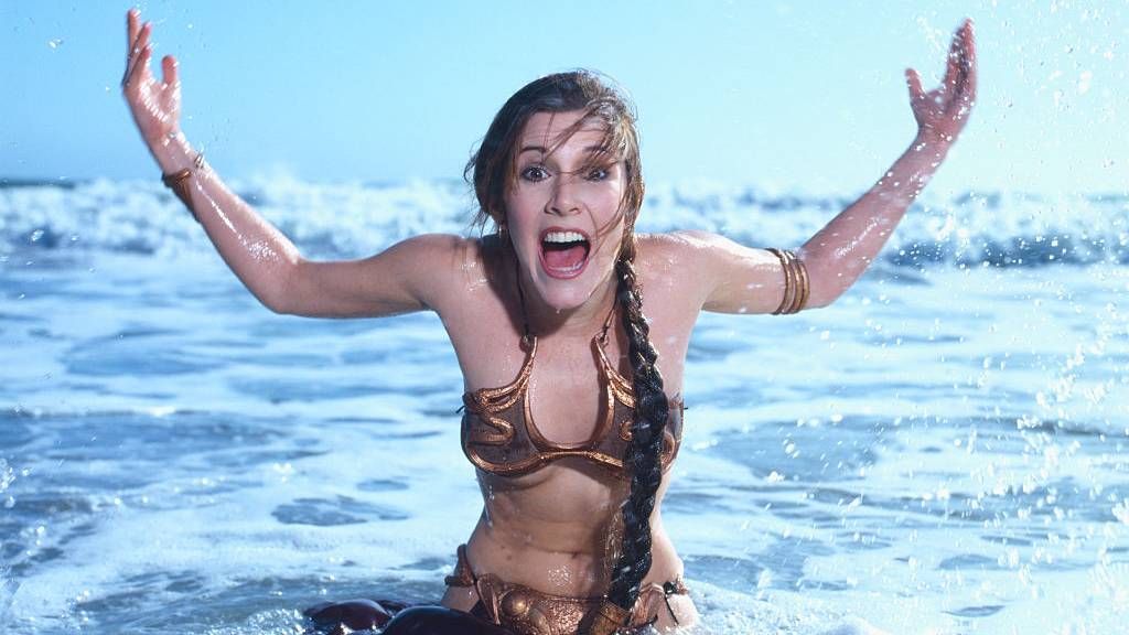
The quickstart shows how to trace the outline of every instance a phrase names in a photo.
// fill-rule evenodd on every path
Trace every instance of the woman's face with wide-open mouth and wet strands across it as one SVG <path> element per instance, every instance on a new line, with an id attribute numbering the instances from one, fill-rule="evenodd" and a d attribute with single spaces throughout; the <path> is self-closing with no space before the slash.
<path id="1" fill-rule="evenodd" d="M 506 193 L 523 278 L 557 311 L 581 306 L 610 280 L 623 237 L 623 162 L 593 163 L 604 128 L 584 123 L 561 142 L 581 114 L 537 113 L 526 122 Z"/>

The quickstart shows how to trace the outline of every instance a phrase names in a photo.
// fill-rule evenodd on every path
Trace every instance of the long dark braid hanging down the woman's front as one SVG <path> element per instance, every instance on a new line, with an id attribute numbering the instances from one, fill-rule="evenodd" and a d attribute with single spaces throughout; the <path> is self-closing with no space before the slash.
<path id="1" fill-rule="evenodd" d="M 630 611 L 639 598 L 642 579 L 650 571 L 650 514 L 663 480 L 660 456 L 669 406 L 663 390 L 663 376 L 655 365 L 658 354 L 650 342 L 650 328 L 642 314 L 642 297 L 632 266 L 634 250 L 624 251 L 627 254 L 615 263 L 615 272 L 636 403 L 631 443 L 624 456 L 624 463 L 631 468 L 631 490 L 623 503 L 623 547 L 612 572 L 607 599 Z"/>

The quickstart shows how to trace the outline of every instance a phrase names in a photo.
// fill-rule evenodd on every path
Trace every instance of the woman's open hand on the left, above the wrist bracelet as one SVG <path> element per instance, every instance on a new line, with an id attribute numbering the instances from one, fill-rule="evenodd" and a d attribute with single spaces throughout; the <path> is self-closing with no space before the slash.
<path id="1" fill-rule="evenodd" d="M 133 121 L 141 131 L 149 149 L 157 149 L 175 138 L 181 131 L 181 81 L 176 72 L 176 59 L 165 55 L 160 66 L 163 81 L 149 71 L 152 47 L 149 35 L 152 24 L 140 24 L 141 14 L 130 9 L 126 14 L 125 75 L 122 77 L 122 95 L 130 106 Z"/>

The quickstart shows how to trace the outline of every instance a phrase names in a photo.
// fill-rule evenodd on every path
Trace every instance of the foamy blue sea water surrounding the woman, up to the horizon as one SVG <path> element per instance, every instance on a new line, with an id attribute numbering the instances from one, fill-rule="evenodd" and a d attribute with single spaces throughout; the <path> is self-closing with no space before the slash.
<path id="1" fill-rule="evenodd" d="M 316 258 L 466 188 L 254 183 Z M 800 244 L 846 197 L 653 188 Z M 913 206 L 833 306 L 703 314 L 665 524 L 707 633 L 1127 633 L 1129 198 Z M 438 319 L 260 306 L 159 184 L 0 188 L 0 630 L 297 633 L 434 601 L 481 512 Z"/>

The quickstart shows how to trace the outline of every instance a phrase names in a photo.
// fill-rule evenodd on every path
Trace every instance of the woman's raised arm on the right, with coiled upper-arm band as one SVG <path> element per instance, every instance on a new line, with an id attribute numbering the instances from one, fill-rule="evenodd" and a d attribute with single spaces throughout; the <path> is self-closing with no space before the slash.
<path id="1" fill-rule="evenodd" d="M 918 123 L 913 143 L 861 198 L 804 243 L 796 255 L 809 280 L 808 307 L 826 306 L 846 292 L 877 256 L 910 203 L 940 166 L 975 103 L 977 63 L 972 21 L 953 36 L 942 85 L 926 93 L 916 70 L 905 71 L 910 107 Z M 767 313 L 781 305 L 781 260 L 720 236 L 684 234 L 706 285 L 703 308 Z M 709 247 L 709 249 L 704 249 Z"/>

